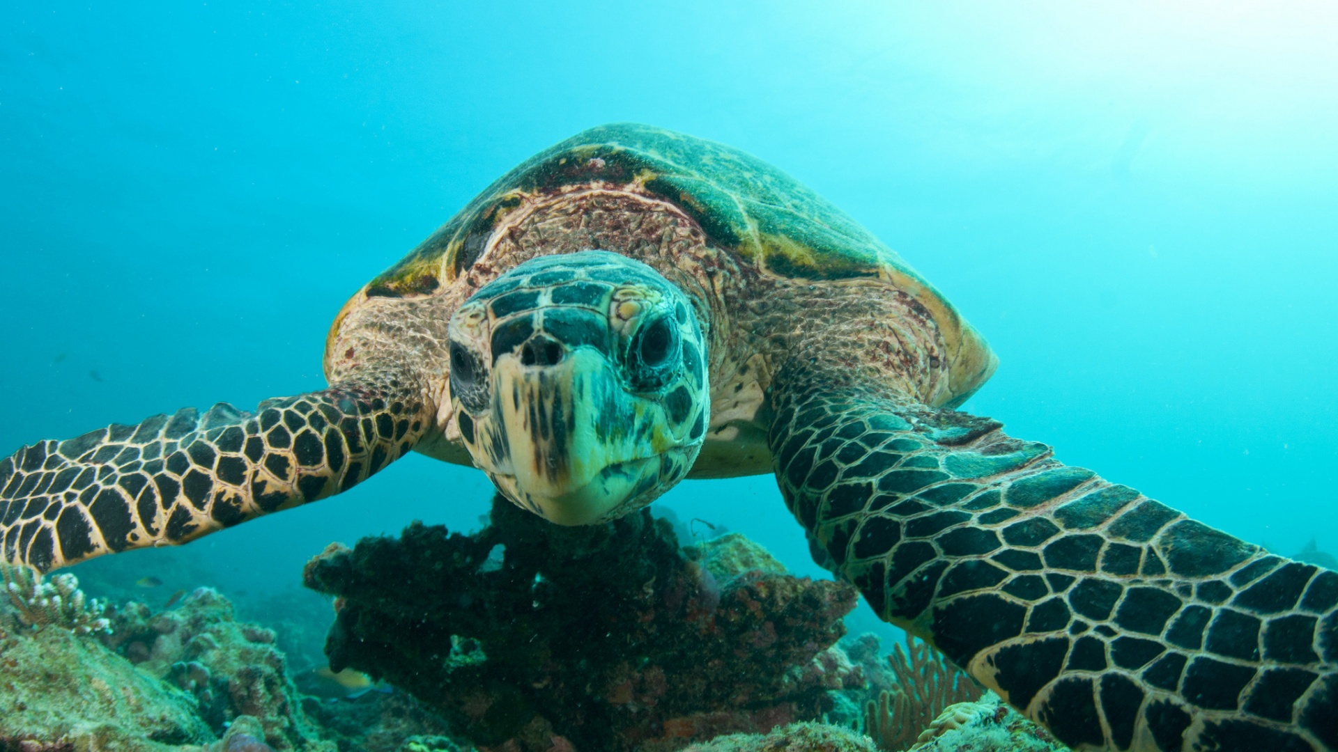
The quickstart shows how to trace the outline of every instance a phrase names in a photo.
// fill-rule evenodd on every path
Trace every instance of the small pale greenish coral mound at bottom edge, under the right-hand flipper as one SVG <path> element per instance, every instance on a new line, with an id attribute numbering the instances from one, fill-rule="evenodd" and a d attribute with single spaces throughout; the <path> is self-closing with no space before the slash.
<path id="1" fill-rule="evenodd" d="M 910 752 L 1069 752 L 1050 732 L 986 692 L 974 702 L 946 708 Z"/>

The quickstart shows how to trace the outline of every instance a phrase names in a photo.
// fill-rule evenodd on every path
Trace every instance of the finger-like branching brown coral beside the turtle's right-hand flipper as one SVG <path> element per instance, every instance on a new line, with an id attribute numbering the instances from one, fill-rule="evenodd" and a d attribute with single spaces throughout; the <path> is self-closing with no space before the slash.
<path id="1" fill-rule="evenodd" d="M 910 634 L 904 650 L 892 646 L 887 664 L 892 688 L 864 705 L 864 733 L 887 752 L 909 749 L 949 705 L 974 702 L 985 693 L 938 650 Z"/>

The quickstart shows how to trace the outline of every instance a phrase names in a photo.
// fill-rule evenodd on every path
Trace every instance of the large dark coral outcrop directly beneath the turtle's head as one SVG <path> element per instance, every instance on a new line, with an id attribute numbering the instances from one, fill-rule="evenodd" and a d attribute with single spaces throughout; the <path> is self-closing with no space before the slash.
<path id="1" fill-rule="evenodd" d="M 822 717 L 862 686 L 832 649 L 854 589 L 741 535 L 680 549 L 649 511 L 559 527 L 494 499 L 471 535 L 412 525 L 332 546 L 330 668 L 384 677 L 483 749 L 678 749 Z"/>

